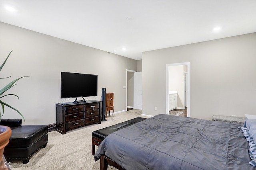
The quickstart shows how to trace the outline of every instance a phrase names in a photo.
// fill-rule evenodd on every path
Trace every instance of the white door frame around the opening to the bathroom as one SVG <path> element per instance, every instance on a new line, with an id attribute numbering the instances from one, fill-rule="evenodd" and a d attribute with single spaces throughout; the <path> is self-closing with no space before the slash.
<path id="1" fill-rule="evenodd" d="M 187 72 L 187 117 L 190 117 L 190 62 L 186 63 L 174 63 L 174 64 L 166 64 L 166 114 L 169 114 L 169 67 L 170 66 L 180 66 L 180 65 L 187 65 L 188 66 L 188 72 Z"/>

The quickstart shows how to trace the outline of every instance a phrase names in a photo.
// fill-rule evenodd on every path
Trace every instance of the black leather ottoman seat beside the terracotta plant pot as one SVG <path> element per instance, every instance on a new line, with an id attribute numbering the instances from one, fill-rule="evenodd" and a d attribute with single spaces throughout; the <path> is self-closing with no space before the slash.
<path id="1" fill-rule="evenodd" d="M 28 163 L 30 156 L 48 142 L 48 127 L 46 125 L 21 125 L 21 119 L 2 119 L 1 125 L 12 129 L 10 142 L 4 148 L 6 160 L 22 160 Z"/>

